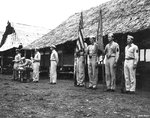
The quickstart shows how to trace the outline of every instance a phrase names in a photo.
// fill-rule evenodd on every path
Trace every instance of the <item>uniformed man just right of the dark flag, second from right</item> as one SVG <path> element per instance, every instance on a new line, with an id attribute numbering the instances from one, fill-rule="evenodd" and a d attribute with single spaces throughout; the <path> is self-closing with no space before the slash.
<path id="1" fill-rule="evenodd" d="M 119 58 L 119 45 L 113 41 L 112 33 L 108 34 L 109 43 L 105 47 L 105 75 L 107 91 L 115 91 L 116 88 L 116 64 Z"/>

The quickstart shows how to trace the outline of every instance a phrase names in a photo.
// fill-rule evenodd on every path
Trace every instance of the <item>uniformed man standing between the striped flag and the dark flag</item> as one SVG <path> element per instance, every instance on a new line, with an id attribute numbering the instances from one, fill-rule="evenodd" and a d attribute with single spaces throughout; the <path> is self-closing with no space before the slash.
<path id="1" fill-rule="evenodd" d="M 96 89 L 98 81 L 98 44 L 95 42 L 95 37 L 90 36 L 90 45 L 88 45 L 86 53 L 88 55 L 88 75 L 89 88 Z"/>

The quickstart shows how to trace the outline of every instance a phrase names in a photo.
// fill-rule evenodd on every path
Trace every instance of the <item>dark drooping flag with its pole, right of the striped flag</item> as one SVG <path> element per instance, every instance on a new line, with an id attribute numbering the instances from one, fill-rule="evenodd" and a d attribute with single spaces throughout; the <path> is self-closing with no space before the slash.
<path id="1" fill-rule="evenodd" d="M 100 34 L 99 34 L 100 33 Z M 104 45 L 103 45 L 103 22 L 102 22 L 102 10 L 99 10 L 99 21 L 98 21 L 98 29 L 97 29 L 97 41 L 99 44 L 99 49 L 104 53 Z M 103 91 L 104 91 L 104 84 L 105 84 L 105 71 L 104 71 L 104 60 L 102 60 L 102 84 L 103 84 Z"/>

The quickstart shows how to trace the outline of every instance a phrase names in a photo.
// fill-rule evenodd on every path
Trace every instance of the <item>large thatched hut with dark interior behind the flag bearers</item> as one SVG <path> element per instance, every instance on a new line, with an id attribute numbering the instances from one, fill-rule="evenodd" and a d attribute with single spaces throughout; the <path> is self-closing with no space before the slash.
<path id="1" fill-rule="evenodd" d="M 139 64 L 137 73 L 140 75 L 139 83 L 149 86 L 150 80 L 150 1 L 149 0 L 111 0 L 100 6 L 83 11 L 84 36 L 97 33 L 99 10 L 102 10 L 103 39 L 107 43 L 107 34 L 112 32 L 120 45 L 121 58 L 123 61 L 126 36 L 131 34 L 135 37 L 134 43 L 139 46 Z M 78 38 L 78 24 L 80 13 L 75 13 L 66 21 L 53 29 L 48 34 L 31 43 L 25 49 L 35 47 L 48 51 L 50 45 L 57 45 L 58 52 L 62 55 L 60 64 L 73 65 L 73 50 L 75 40 Z M 46 53 L 48 54 L 48 53 Z M 70 55 L 70 56 L 68 56 Z M 49 60 L 49 58 L 45 58 Z"/>

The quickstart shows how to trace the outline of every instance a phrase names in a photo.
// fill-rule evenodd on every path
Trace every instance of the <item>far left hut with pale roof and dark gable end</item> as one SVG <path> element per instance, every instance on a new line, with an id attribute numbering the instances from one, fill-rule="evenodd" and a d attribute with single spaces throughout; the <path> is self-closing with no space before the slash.
<path id="1" fill-rule="evenodd" d="M 12 60 L 14 59 L 16 48 L 20 45 L 27 46 L 48 31 L 42 27 L 8 22 L 5 32 L 0 37 L 1 73 L 12 72 Z M 23 51 L 22 56 L 24 56 Z"/>

